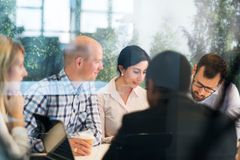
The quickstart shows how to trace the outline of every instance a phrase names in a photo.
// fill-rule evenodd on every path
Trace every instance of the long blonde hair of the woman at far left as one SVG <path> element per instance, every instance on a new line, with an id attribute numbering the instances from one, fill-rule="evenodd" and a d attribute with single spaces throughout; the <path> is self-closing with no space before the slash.
<path id="1" fill-rule="evenodd" d="M 8 71 L 19 51 L 24 54 L 24 48 L 20 43 L 0 34 L 0 113 L 2 114 L 6 114 L 4 105 L 6 94 L 4 92 Z"/>

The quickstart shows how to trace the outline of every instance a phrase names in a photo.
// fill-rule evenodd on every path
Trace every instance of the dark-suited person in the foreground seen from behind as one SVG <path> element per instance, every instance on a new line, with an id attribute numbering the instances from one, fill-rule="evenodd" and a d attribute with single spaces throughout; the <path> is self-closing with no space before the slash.
<path id="1" fill-rule="evenodd" d="M 187 96 L 190 81 L 191 67 L 183 55 L 158 54 L 146 74 L 150 108 L 123 117 L 104 159 L 233 160 L 234 122 L 194 103 Z"/>

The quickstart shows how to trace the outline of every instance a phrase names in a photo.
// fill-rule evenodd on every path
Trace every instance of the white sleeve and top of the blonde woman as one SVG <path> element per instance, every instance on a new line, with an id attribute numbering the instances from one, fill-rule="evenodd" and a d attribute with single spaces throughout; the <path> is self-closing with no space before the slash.
<path id="1" fill-rule="evenodd" d="M 0 114 L 0 126 L 0 136 L 6 143 L 10 154 L 16 158 L 26 156 L 30 149 L 27 129 L 24 127 L 14 127 L 10 134 L 2 114 Z"/>

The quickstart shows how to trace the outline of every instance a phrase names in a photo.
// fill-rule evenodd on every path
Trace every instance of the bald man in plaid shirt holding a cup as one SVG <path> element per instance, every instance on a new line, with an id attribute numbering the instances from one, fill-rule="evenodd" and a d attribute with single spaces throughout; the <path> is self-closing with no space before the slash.
<path id="1" fill-rule="evenodd" d="M 25 122 L 34 152 L 43 152 L 34 114 L 64 123 L 71 137 L 87 130 L 100 144 L 101 122 L 93 84 L 103 69 L 102 46 L 87 36 L 76 37 L 64 52 L 64 68 L 33 85 L 25 97 Z M 70 139 L 75 155 L 90 154 L 91 145 Z"/>

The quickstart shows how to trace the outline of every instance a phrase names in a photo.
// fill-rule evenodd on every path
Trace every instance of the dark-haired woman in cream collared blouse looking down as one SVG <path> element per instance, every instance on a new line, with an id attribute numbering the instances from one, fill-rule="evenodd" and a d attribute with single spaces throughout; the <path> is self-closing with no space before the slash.
<path id="1" fill-rule="evenodd" d="M 121 126 L 123 115 L 148 108 L 144 81 L 150 58 L 138 46 L 127 46 L 119 54 L 114 77 L 99 94 L 103 142 L 110 142 Z"/>

